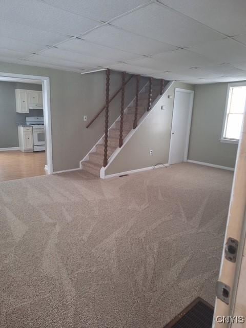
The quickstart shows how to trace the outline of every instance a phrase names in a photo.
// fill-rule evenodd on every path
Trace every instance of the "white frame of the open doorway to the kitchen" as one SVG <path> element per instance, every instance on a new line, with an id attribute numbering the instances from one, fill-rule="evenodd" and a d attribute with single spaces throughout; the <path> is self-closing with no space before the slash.
<path id="1" fill-rule="evenodd" d="M 36 76 L 36 75 L 25 75 L 0 72 L 1 77 L 19 78 L 29 80 L 42 81 L 42 93 L 43 93 L 43 110 L 44 110 L 44 122 L 45 122 L 45 133 L 46 133 L 46 156 L 47 165 L 45 170 L 48 174 L 53 173 L 53 153 L 52 153 L 52 131 L 51 131 L 51 106 L 50 106 L 50 78 L 48 76 Z"/>

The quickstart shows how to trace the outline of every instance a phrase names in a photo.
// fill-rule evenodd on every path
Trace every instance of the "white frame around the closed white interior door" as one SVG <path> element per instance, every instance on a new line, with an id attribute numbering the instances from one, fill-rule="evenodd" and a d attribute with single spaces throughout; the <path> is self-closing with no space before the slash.
<path id="1" fill-rule="evenodd" d="M 174 90 L 174 101 L 173 101 L 173 113 L 174 113 L 176 92 L 184 92 L 184 93 L 190 93 L 191 94 L 190 104 L 189 104 L 188 129 L 187 129 L 187 135 L 186 135 L 185 152 L 184 152 L 184 155 L 183 155 L 183 161 L 187 162 L 187 160 L 188 160 L 188 150 L 189 150 L 189 141 L 190 141 L 190 133 L 191 133 L 191 120 L 192 120 L 194 91 L 193 90 L 188 90 L 188 89 L 182 89 L 182 88 L 175 88 L 175 90 Z M 174 115 L 172 115 L 172 127 L 171 127 L 171 135 L 170 135 L 169 154 L 168 154 L 168 164 L 169 165 L 170 165 L 170 155 L 171 155 L 171 151 L 172 151 L 173 119 L 174 119 Z"/>

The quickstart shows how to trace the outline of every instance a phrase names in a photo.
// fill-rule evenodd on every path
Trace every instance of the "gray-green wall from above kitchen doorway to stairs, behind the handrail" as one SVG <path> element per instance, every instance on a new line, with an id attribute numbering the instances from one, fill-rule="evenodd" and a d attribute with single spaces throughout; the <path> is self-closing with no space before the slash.
<path id="1" fill-rule="evenodd" d="M 105 104 L 105 72 L 81 75 L 8 63 L 0 63 L 0 72 L 50 77 L 53 170 L 78 168 L 79 161 L 104 133 L 104 115 L 89 129 L 86 125 Z M 111 74 L 111 95 L 121 85 L 120 76 L 116 72 Z M 134 81 L 126 93 L 129 99 L 135 93 Z M 120 95 L 110 106 L 110 124 L 119 114 L 119 99 Z M 83 121 L 83 115 L 87 115 L 87 122 Z"/>

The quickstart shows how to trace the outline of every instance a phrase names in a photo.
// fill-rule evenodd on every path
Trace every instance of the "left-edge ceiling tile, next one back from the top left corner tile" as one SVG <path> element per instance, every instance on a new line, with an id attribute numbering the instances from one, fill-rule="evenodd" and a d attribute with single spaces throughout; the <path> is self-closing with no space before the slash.
<path id="1" fill-rule="evenodd" d="M 0 36 L 23 40 L 25 42 L 31 42 L 43 46 L 53 46 L 56 43 L 68 39 L 67 36 L 61 34 L 30 28 L 26 25 L 9 22 L 4 19 L 0 19 Z"/>

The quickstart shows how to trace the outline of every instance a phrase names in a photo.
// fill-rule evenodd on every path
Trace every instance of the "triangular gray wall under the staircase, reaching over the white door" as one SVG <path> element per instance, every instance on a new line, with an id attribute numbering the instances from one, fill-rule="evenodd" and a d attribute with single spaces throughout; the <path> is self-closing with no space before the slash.
<path id="1" fill-rule="evenodd" d="M 160 106 L 151 110 L 148 118 L 109 165 L 106 175 L 168 163 L 175 87 L 194 90 L 192 85 L 175 82 L 162 97 Z M 168 95 L 173 98 L 168 98 Z M 165 110 L 160 109 L 161 105 L 165 106 Z M 150 149 L 153 149 L 153 155 L 149 155 Z"/>

